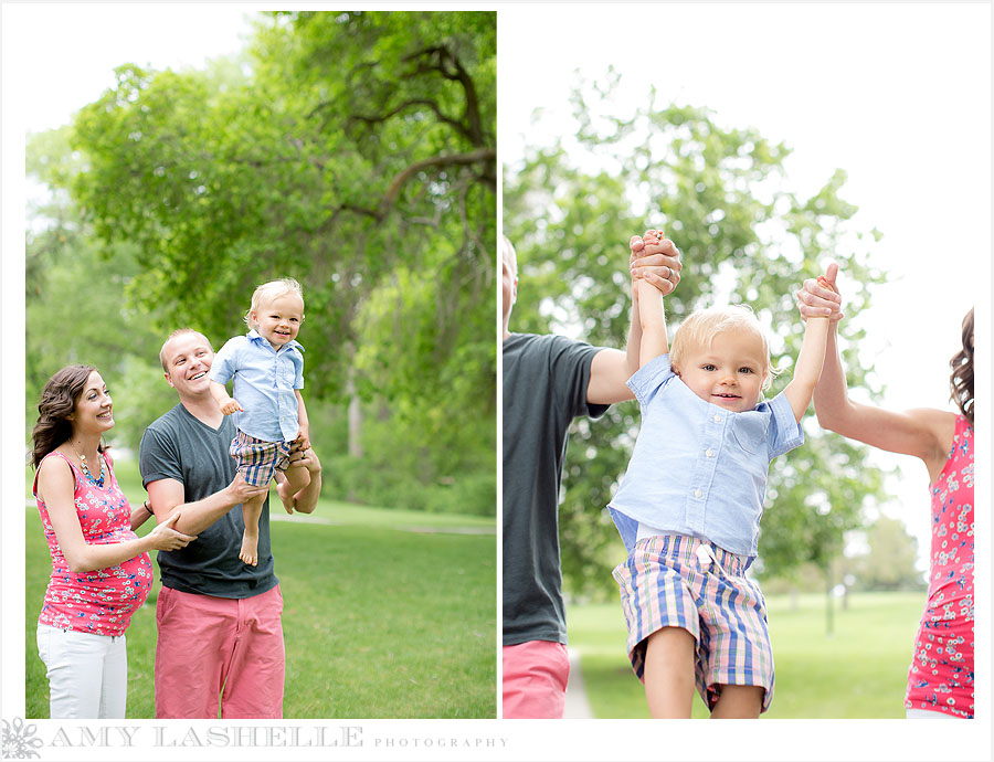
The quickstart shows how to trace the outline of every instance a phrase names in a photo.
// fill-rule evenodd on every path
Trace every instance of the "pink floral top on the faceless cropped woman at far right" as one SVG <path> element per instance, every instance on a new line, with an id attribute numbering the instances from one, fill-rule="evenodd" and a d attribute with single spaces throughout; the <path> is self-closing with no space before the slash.
<path id="1" fill-rule="evenodd" d="M 973 426 L 962 415 L 931 491 L 929 602 L 905 707 L 973 717 Z"/>

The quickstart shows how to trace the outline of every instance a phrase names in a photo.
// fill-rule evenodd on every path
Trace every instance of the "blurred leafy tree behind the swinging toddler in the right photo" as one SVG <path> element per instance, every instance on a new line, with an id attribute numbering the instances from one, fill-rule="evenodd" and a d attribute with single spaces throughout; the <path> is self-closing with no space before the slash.
<path id="1" fill-rule="evenodd" d="M 774 364 L 790 379 L 803 325 L 793 293 L 833 258 L 856 284 L 846 294 L 847 328 L 858 320 L 878 233 L 850 224 L 856 208 L 839 198 L 836 172 L 812 198 L 787 187 L 789 149 L 755 129 L 722 125 L 705 108 L 659 104 L 618 114 L 616 75 L 573 93 L 574 129 L 551 145 L 527 146 L 505 169 L 505 232 L 518 250 L 520 284 L 511 330 L 563 331 L 594 345 L 624 347 L 631 294 L 627 241 L 649 226 L 683 252 L 679 287 L 667 297 L 670 330 L 718 299 L 748 303 L 774 335 Z M 539 118 L 537 116 L 537 118 Z M 850 338 L 858 338 L 852 336 Z M 869 378 L 844 341 L 850 384 Z M 634 402 L 572 428 L 561 506 L 563 572 L 573 593 L 610 589 L 623 555 L 604 509 L 625 470 L 638 427 Z M 860 526 L 860 508 L 880 494 L 880 475 L 860 446 L 825 435 L 807 421 L 807 443 L 773 463 L 762 520 L 759 570 L 803 562 L 826 574 L 843 532 Z M 665 464 L 660 464 L 665 468 Z"/>

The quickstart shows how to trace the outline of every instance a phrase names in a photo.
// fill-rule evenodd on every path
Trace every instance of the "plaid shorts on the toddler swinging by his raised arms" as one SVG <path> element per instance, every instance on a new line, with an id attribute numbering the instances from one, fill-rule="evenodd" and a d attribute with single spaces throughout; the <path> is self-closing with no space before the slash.
<path id="1" fill-rule="evenodd" d="M 628 625 L 628 658 L 645 680 L 646 638 L 683 627 L 697 641 L 695 680 L 709 709 L 721 685 L 762 686 L 773 699 L 773 649 L 759 585 L 745 578 L 748 559 L 684 535 L 639 540 L 614 570 Z"/>

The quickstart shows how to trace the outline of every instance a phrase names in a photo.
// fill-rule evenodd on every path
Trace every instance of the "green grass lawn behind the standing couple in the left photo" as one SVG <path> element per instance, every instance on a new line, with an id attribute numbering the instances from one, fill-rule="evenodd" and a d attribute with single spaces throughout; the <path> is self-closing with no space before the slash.
<path id="1" fill-rule="evenodd" d="M 140 502 L 137 473 L 121 467 L 118 477 L 133 502 Z M 275 493 L 273 499 L 274 516 L 285 516 Z M 285 604 L 284 716 L 496 717 L 496 536 L 484 531 L 494 529 L 495 519 L 324 499 L 315 516 L 335 523 L 289 518 L 271 525 Z M 46 718 L 47 681 L 34 628 L 51 561 L 36 508 L 27 508 L 25 517 L 25 716 Z M 483 533 L 446 531 L 457 527 Z M 152 592 L 127 634 L 129 718 L 155 717 L 159 586 L 156 564 Z"/>

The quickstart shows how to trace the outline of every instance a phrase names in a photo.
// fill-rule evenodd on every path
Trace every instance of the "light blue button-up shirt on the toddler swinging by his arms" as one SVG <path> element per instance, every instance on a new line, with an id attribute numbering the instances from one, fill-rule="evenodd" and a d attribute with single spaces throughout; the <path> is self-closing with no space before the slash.
<path id="1" fill-rule="evenodd" d="M 770 462 L 804 443 L 786 396 L 726 410 L 675 375 L 669 354 L 639 368 L 628 388 L 642 405 L 642 427 L 609 505 L 625 547 L 631 551 L 645 523 L 753 558 Z"/>

